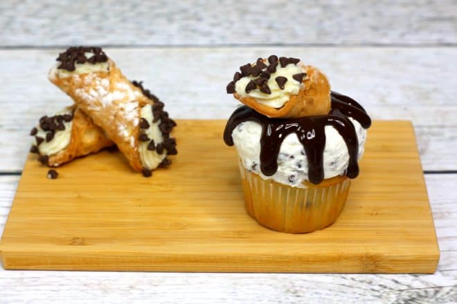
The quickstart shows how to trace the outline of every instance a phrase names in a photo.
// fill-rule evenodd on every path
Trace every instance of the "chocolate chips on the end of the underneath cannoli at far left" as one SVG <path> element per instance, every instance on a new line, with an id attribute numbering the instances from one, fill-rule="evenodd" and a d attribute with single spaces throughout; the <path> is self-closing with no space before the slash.
<path id="1" fill-rule="evenodd" d="M 46 142 L 51 142 L 51 140 L 53 140 L 54 138 L 55 132 L 65 130 L 64 122 L 71 122 L 71 120 L 73 120 L 73 113 L 64 115 L 54 115 L 51 117 L 41 117 L 39 119 L 39 127 L 46 132 L 46 137 L 43 138 L 37 136 L 38 129 L 34 127 L 32 131 L 30 131 L 30 135 L 35 136 L 37 144 L 33 145 L 30 148 L 30 152 L 39 153 L 38 146 L 42 144 L 42 142 L 44 142 L 45 140 Z M 42 164 L 48 164 L 48 155 L 40 155 L 38 160 L 42 162 Z"/>

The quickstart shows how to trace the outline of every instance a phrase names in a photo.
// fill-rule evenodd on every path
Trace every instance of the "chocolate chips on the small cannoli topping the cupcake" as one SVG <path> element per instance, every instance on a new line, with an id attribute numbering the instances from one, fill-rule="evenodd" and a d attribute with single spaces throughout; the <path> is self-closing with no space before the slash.
<path id="1" fill-rule="evenodd" d="M 271 55 L 268 57 L 269 65 L 265 64 L 262 58 L 258 58 L 255 65 L 245 64 L 244 66 L 240 66 L 240 72 L 236 72 L 233 75 L 233 81 L 229 82 L 227 85 L 227 93 L 233 94 L 235 93 L 235 83 L 238 82 L 242 77 L 253 76 L 258 77 L 256 79 L 251 79 L 251 81 L 247 84 L 244 91 L 249 93 L 256 88 L 259 88 L 260 92 L 265 94 L 271 94 L 271 90 L 267 84 L 268 79 L 270 79 L 271 74 L 276 73 L 276 68 L 278 68 L 278 64 L 280 64 L 281 68 L 285 68 L 288 64 L 298 64 L 300 59 L 292 58 L 292 57 L 279 57 L 276 55 Z M 292 76 L 297 82 L 302 82 L 303 77 L 306 77 L 306 73 L 298 73 Z M 283 76 L 278 76 L 275 78 L 276 83 L 278 84 L 281 90 L 284 89 L 285 83 L 287 82 L 287 78 Z"/>

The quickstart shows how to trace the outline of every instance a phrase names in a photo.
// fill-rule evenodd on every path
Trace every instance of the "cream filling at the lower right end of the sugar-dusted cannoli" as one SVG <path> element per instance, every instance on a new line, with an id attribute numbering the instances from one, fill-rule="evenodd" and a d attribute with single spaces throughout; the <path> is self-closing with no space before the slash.
<path id="1" fill-rule="evenodd" d="M 141 118 L 144 118 L 149 123 L 149 128 L 141 129 L 143 130 L 143 133 L 145 133 L 150 140 L 154 140 L 154 144 L 156 146 L 157 144 L 163 142 L 162 132 L 159 129 L 161 120 L 152 122 L 152 120 L 154 120 L 154 116 L 152 115 L 152 105 L 147 104 L 146 106 L 143 106 L 143 108 L 141 108 L 140 115 Z M 163 149 L 162 154 L 157 153 L 156 150 L 147 150 L 147 145 L 149 143 L 150 141 L 139 142 L 138 149 L 143 167 L 153 170 L 156 169 L 156 167 L 159 166 L 162 160 L 167 156 L 167 150 Z"/>

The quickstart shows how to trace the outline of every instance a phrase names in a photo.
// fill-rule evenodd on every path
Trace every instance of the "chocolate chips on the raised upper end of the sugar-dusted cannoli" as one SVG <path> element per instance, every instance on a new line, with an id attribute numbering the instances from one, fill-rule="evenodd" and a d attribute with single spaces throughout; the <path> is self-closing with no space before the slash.
<path id="1" fill-rule="evenodd" d="M 86 57 L 86 53 L 93 53 L 89 58 Z M 102 48 L 94 46 L 73 46 L 67 48 L 64 53 L 60 53 L 56 59 L 60 61 L 60 65 L 57 68 L 62 70 L 68 70 L 69 72 L 75 70 L 75 64 L 96 64 L 97 62 L 106 62 L 108 60 L 107 55 L 103 52 Z"/>

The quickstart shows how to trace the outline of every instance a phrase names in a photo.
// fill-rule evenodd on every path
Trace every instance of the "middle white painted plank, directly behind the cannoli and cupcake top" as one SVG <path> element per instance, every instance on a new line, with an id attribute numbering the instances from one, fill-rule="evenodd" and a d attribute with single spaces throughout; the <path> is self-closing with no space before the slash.
<path id="1" fill-rule="evenodd" d="M 46 79 L 61 50 L 0 50 L 0 141 L 14 142 L 0 171 L 21 170 L 28 131 L 71 99 Z M 374 119 L 415 124 L 425 170 L 455 170 L 457 87 L 449 62 L 457 48 L 109 48 L 123 72 L 143 79 L 177 118 L 227 118 L 238 102 L 225 86 L 242 63 L 277 53 L 321 67 L 335 90 L 366 106 Z"/>

